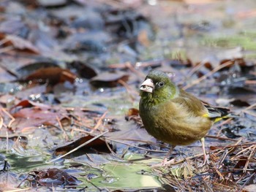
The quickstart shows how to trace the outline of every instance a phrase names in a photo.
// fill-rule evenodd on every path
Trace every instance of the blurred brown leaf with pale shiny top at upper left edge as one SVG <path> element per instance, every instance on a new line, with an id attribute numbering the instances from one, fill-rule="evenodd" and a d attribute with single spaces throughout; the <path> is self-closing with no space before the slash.
<path id="1" fill-rule="evenodd" d="M 7 42 L 4 43 L 4 46 L 12 45 L 17 50 L 23 50 L 29 53 L 39 54 L 39 50 L 37 49 L 37 47 L 32 45 L 32 43 L 26 39 L 22 39 L 21 37 L 18 37 L 15 35 L 3 35 L 3 34 L 1 34 L 0 38 L 7 40 Z"/>

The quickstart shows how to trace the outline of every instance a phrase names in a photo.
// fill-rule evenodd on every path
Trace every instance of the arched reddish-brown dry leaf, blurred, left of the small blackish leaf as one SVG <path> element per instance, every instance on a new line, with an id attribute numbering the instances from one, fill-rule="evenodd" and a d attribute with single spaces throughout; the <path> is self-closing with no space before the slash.
<path id="1" fill-rule="evenodd" d="M 68 69 L 61 69 L 59 67 L 48 67 L 44 69 L 37 69 L 37 71 L 25 77 L 25 80 L 43 80 L 48 81 L 50 85 L 56 85 L 59 82 L 69 81 L 73 83 L 76 75 Z"/>

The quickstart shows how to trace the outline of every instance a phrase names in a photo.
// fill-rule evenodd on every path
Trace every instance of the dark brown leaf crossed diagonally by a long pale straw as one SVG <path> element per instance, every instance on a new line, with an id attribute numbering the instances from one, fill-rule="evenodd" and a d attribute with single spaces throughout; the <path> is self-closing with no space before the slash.
<path id="1" fill-rule="evenodd" d="M 74 142 L 69 142 L 67 145 L 56 148 L 55 155 L 64 155 L 68 153 L 70 150 L 73 150 L 75 147 L 78 147 L 93 138 L 94 136 L 88 135 L 86 137 L 81 137 L 80 139 L 77 139 Z M 109 144 L 109 146 L 113 148 L 112 145 Z M 110 150 L 108 149 L 108 146 L 106 145 L 105 140 L 101 138 L 95 139 L 94 141 L 90 142 L 88 145 L 82 147 L 80 150 L 82 150 L 83 153 L 89 153 L 89 152 L 95 153 L 95 150 L 102 153 L 110 153 Z"/>

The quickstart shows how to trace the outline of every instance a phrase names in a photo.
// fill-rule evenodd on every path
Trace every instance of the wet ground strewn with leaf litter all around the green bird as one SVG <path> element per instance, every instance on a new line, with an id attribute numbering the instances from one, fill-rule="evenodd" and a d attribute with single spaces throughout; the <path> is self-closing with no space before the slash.
<path id="1" fill-rule="evenodd" d="M 252 5 L 1 1 L 0 190 L 252 191 Z M 151 167 L 170 148 L 138 115 L 151 69 L 239 115 L 209 131 L 208 165 L 195 142 Z"/>

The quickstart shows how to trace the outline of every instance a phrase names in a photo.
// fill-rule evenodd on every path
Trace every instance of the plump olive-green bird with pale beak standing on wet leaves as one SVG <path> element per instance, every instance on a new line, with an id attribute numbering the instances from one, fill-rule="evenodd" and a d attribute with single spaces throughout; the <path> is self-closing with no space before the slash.
<path id="1" fill-rule="evenodd" d="M 143 126 L 156 139 L 170 144 L 190 145 L 200 140 L 203 147 L 203 165 L 208 162 L 204 137 L 211 126 L 222 118 L 229 118 L 229 109 L 203 104 L 191 93 L 184 91 L 170 80 L 165 72 L 152 70 L 140 85 L 139 114 Z"/>

